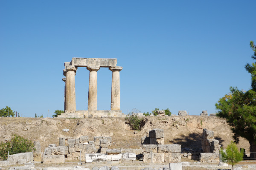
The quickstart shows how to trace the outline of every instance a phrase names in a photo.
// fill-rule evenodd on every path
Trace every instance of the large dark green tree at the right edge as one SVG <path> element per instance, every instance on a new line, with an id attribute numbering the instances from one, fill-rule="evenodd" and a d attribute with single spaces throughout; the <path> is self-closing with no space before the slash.
<path id="1" fill-rule="evenodd" d="M 253 59 L 256 59 L 256 46 L 250 42 L 253 49 Z M 256 141 L 256 62 L 245 65 L 245 69 L 251 74 L 251 88 L 248 91 L 230 87 L 230 93 L 219 99 L 215 104 L 218 117 L 227 119 L 227 123 L 233 131 L 236 143 L 239 137 L 244 137 L 250 142 Z"/>

